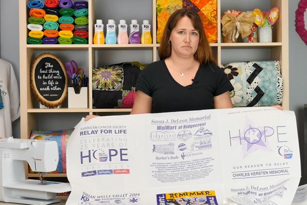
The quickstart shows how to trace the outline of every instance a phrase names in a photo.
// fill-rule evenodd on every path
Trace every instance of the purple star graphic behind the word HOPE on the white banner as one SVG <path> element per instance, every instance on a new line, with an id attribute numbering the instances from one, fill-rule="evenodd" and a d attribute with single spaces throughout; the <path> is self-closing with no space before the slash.
<path id="1" fill-rule="evenodd" d="M 269 127 L 256 127 L 256 125 L 246 117 L 245 128 L 240 130 L 240 134 L 231 138 L 231 141 L 238 141 L 242 144 L 243 158 L 248 158 L 257 150 L 273 152 L 268 139 L 273 134 L 273 129 Z"/>

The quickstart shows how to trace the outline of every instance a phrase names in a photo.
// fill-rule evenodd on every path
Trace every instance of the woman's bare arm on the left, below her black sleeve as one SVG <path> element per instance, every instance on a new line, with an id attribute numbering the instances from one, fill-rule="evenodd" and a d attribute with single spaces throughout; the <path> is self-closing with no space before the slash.
<path id="1" fill-rule="evenodd" d="M 130 115 L 151 113 L 151 108 L 152 97 L 138 90 Z"/>

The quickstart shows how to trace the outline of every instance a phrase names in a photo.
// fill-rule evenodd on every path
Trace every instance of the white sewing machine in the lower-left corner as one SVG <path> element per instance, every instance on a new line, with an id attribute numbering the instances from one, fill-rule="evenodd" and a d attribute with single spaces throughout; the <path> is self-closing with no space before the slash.
<path id="1" fill-rule="evenodd" d="M 25 161 L 40 180 L 26 179 Z M 56 193 L 71 191 L 69 183 L 43 180 L 43 174 L 56 170 L 59 162 L 56 141 L 0 139 L 0 201 L 45 205 L 60 202 Z"/>

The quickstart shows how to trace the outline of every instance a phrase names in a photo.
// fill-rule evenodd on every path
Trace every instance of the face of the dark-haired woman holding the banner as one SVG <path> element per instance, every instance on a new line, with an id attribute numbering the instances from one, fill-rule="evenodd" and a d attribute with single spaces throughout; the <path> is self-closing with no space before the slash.
<path id="1" fill-rule="evenodd" d="M 199 46 L 200 34 L 187 16 L 180 18 L 170 33 L 171 52 L 181 57 L 193 56 Z M 174 53 L 173 53 L 174 52 Z"/>

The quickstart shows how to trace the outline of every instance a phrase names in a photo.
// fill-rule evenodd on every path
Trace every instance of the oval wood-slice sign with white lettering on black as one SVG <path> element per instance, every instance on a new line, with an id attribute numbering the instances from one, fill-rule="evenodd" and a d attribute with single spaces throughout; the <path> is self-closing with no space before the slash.
<path id="1" fill-rule="evenodd" d="M 51 53 L 35 58 L 31 69 L 31 87 L 42 105 L 54 108 L 67 97 L 68 78 L 61 60 Z"/>

